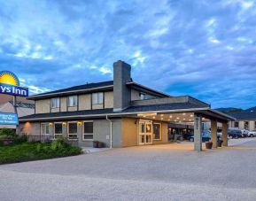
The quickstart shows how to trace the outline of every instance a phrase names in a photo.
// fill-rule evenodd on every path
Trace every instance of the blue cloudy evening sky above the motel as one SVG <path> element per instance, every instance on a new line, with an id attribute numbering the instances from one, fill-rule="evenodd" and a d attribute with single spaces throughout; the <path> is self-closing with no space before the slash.
<path id="1" fill-rule="evenodd" d="M 0 71 L 30 94 L 133 80 L 217 107 L 256 105 L 256 1 L 0 0 Z"/>

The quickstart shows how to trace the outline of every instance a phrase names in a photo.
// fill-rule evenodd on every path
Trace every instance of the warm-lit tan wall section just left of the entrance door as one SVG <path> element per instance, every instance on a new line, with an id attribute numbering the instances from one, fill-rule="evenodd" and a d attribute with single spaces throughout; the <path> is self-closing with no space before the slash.
<path id="1" fill-rule="evenodd" d="M 123 147 L 136 146 L 138 144 L 137 125 L 138 123 L 136 119 L 122 118 L 121 130 L 122 130 L 122 146 Z"/>

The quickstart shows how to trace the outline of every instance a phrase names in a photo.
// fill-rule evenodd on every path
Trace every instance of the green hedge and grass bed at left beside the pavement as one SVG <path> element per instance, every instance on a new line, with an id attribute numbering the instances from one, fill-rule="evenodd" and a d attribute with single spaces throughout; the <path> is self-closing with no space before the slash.
<path id="1" fill-rule="evenodd" d="M 29 160 L 59 158 L 81 154 L 81 148 L 69 145 L 65 140 L 52 143 L 18 143 L 0 146 L 0 164 Z"/>

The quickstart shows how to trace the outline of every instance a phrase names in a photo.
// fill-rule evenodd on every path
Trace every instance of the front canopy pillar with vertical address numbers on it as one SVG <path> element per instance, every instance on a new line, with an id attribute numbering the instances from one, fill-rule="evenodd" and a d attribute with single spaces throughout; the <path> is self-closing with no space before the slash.
<path id="1" fill-rule="evenodd" d="M 202 151 L 202 116 L 194 114 L 194 150 Z"/>

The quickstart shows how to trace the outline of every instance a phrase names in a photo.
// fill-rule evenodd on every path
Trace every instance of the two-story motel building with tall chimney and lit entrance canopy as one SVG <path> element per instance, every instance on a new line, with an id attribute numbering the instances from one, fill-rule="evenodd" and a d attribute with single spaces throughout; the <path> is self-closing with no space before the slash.
<path id="1" fill-rule="evenodd" d="M 88 83 L 29 97 L 35 101 L 35 114 L 20 118 L 19 128 L 27 135 L 59 135 L 77 140 L 81 146 L 93 141 L 107 147 L 127 147 L 168 143 L 168 124 L 194 127 L 195 150 L 202 149 L 203 120 L 212 122 L 216 147 L 217 122 L 223 125 L 224 145 L 228 145 L 229 115 L 211 109 L 194 97 L 171 97 L 136 83 L 131 66 L 113 64 L 113 81 Z"/>

